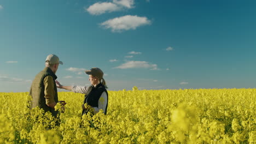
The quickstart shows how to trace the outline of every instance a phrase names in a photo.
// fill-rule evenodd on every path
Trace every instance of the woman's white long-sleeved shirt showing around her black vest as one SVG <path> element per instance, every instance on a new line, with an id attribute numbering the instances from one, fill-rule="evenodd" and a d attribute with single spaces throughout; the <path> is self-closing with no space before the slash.
<path id="1" fill-rule="evenodd" d="M 72 92 L 74 93 L 83 93 L 86 94 L 88 92 L 89 87 L 86 86 L 72 86 Z M 86 100 L 87 103 L 87 100 Z M 98 107 L 92 107 L 94 109 L 94 113 L 96 114 L 99 112 L 101 109 L 103 110 L 103 113 L 106 111 L 108 99 L 107 99 L 107 93 L 103 92 L 101 94 L 100 99 L 98 99 Z"/>

